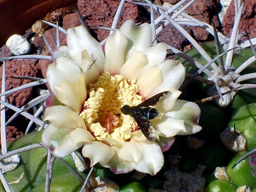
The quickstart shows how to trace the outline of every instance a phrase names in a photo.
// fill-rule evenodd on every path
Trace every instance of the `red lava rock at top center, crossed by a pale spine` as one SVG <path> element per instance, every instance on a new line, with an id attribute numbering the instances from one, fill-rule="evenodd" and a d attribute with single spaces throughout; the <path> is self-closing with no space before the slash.
<path id="1" fill-rule="evenodd" d="M 111 27 L 119 3 L 119 1 L 112 0 L 78 0 L 77 6 L 89 26 Z M 138 22 L 139 15 L 137 5 L 124 4 L 117 28 L 128 19 Z M 108 30 L 98 28 L 94 28 L 93 30 L 97 34 L 97 39 L 100 41 L 104 40 L 109 35 Z"/>

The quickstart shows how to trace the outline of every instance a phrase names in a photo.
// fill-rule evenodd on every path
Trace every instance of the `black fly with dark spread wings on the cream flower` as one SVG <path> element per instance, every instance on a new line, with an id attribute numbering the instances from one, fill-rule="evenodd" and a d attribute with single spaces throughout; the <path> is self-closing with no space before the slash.
<path id="1" fill-rule="evenodd" d="M 155 141 L 156 129 L 149 120 L 156 118 L 158 116 L 158 111 L 152 107 L 155 106 L 157 102 L 164 101 L 170 95 L 170 91 L 164 91 L 150 97 L 137 106 L 124 105 L 122 107 L 122 112 L 124 115 L 130 115 L 135 119 L 143 135 L 145 135 L 148 140 Z"/>

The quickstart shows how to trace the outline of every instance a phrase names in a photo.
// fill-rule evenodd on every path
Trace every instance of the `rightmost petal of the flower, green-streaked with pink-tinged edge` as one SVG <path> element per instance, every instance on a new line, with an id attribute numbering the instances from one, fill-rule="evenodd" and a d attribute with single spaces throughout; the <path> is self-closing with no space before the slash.
<path id="1" fill-rule="evenodd" d="M 172 110 L 165 113 L 174 119 L 184 121 L 185 130 L 181 129 L 178 135 L 190 135 L 199 132 L 202 127 L 198 125 L 201 110 L 196 103 L 177 100 Z"/>

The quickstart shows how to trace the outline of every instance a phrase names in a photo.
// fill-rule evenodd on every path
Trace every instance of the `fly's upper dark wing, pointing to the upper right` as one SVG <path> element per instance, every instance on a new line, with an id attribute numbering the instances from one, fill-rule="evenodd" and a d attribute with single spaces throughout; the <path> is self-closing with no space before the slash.
<path id="1" fill-rule="evenodd" d="M 143 101 L 138 106 L 139 107 L 155 106 L 157 102 L 159 102 L 159 101 L 163 102 L 168 97 L 170 97 L 171 94 L 172 94 L 172 92 L 170 92 L 170 91 L 164 91 L 164 92 L 158 93 L 158 94 L 150 97 L 149 99 Z"/>

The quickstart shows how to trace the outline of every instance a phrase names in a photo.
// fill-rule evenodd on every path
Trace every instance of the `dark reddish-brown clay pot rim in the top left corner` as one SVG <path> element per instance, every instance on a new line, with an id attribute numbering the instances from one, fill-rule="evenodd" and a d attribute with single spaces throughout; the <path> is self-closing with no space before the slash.
<path id="1" fill-rule="evenodd" d="M 12 34 L 25 34 L 25 30 L 48 12 L 74 3 L 76 0 L 0 0 L 0 46 Z"/>

